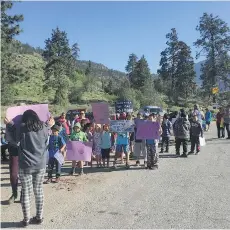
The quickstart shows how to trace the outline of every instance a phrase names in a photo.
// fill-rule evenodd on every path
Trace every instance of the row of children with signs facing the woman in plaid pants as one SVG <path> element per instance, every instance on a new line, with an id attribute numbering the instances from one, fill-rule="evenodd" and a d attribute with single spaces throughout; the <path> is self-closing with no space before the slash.
<path id="1" fill-rule="evenodd" d="M 131 115 L 122 114 L 116 116 L 114 119 L 120 120 L 131 120 L 133 117 Z M 167 114 L 164 115 L 163 121 L 161 117 L 156 114 L 150 114 L 148 117 L 142 118 L 140 113 L 134 118 L 134 123 L 138 119 L 148 119 L 153 122 L 159 122 L 160 134 L 162 139 L 162 146 L 160 153 L 169 152 L 169 140 L 170 135 L 172 135 L 172 129 L 175 135 L 176 141 L 176 154 L 179 153 L 180 144 L 183 143 L 184 151 L 183 155 L 187 155 L 187 143 L 189 137 L 191 140 L 191 151 L 194 152 L 195 145 L 197 146 L 197 153 L 200 151 L 199 137 L 203 136 L 203 130 L 201 124 L 197 120 L 197 116 L 194 115 L 192 121 L 186 119 L 185 113 L 181 113 L 180 117 L 172 125 L 169 121 Z M 82 123 L 82 124 L 81 124 Z M 61 175 L 61 165 L 54 157 L 57 151 L 60 151 L 64 157 L 66 155 L 66 143 L 70 141 L 81 141 L 81 142 L 92 142 L 92 161 L 95 160 L 97 167 L 110 167 L 110 154 L 115 151 L 113 167 L 117 167 L 117 159 L 121 157 L 121 162 L 124 161 L 124 156 L 126 160 L 126 168 L 130 168 L 129 158 L 130 156 L 136 157 L 136 165 L 140 165 L 141 156 L 144 157 L 144 166 L 148 169 L 158 168 L 159 153 L 157 152 L 157 147 L 159 140 L 138 140 L 136 138 L 136 128 L 134 132 L 128 133 L 111 133 L 108 124 L 100 125 L 95 123 L 84 123 L 77 122 L 73 126 L 72 133 L 68 136 L 65 132 L 65 128 L 61 123 L 56 123 L 52 128 L 52 135 L 49 138 L 48 152 L 48 179 L 45 183 L 52 182 L 52 173 L 54 166 L 56 168 L 56 180 L 59 182 Z M 182 156 L 183 156 L 182 155 Z M 91 162 L 86 162 L 86 164 L 91 164 Z M 83 161 L 72 161 L 72 168 L 70 170 L 70 175 L 76 173 L 76 166 L 78 165 L 79 174 L 82 175 L 84 162 Z"/>

